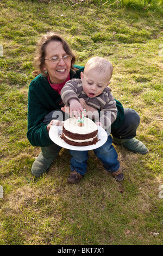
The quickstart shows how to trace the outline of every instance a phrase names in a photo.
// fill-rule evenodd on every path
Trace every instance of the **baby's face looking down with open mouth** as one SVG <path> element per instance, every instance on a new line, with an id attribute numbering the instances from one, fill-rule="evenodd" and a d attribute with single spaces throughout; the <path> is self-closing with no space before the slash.
<path id="1" fill-rule="evenodd" d="M 83 91 L 90 97 L 97 97 L 109 84 L 108 74 L 98 74 L 95 70 L 89 70 L 83 74 L 81 72 L 81 80 L 83 82 Z"/>

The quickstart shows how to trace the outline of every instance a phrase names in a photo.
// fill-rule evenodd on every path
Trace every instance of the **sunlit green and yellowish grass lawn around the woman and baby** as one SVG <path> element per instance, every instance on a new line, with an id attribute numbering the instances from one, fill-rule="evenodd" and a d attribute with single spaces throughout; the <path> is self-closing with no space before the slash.
<path id="1" fill-rule="evenodd" d="M 162 244 L 161 4 L 1 1 L 0 245 Z M 64 35 L 79 65 L 92 56 L 108 57 L 114 65 L 112 93 L 140 114 L 136 138 L 149 153 L 133 154 L 115 145 L 123 182 L 105 172 L 93 151 L 77 185 L 66 181 L 66 149 L 47 175 L 35 179 L 30 173 L 40 149 L 26 137 L 28 87 L 36 42 L 51 30 Z"/>

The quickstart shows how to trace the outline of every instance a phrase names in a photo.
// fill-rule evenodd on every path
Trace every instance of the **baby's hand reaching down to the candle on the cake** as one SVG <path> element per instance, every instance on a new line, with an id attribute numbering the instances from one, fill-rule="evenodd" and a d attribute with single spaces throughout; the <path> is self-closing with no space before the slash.
<path id="1" fill-rule="evenodd" d="M 71 99 L 68 101 L 69 105 L 70 105 L 70 117 L 72 117 L 72 115 L 74 115 L 76 118 L 80 117 L 82 118 L 82 113 L 85 115 L 85 111 L 84 108 L 82 107 L 82 105 L 80 104 L 80 102 L 76 99 Z"/>

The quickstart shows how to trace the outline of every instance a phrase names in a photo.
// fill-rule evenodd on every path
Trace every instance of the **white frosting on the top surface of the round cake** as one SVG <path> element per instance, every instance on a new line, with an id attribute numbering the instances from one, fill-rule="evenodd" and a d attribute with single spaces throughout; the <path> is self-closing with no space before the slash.
<path id="1" fill-rule="evenodd" d="M 84 117 L 84 126 L 78 125 L 78 119 L 75 117 L 69 118 L 64 122 L 65 130 L 78 133 L 78 134 L 87 134 L 94 131 L 97 131 L 98 127 L 93 121 L 89 118 Z"/>

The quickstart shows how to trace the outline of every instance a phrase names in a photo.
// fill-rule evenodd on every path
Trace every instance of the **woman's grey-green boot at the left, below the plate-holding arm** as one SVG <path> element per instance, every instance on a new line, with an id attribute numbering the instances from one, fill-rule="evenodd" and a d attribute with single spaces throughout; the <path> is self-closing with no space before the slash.
<path id="1" fill-rule="evenodd" d="M 45 157 L 42 152 L 37 156 L 32 165 L 31 172 L 35 177 L 41 176 L 43 173 L 47 173 L 54 157 Z"/>

